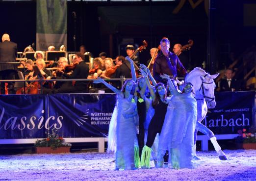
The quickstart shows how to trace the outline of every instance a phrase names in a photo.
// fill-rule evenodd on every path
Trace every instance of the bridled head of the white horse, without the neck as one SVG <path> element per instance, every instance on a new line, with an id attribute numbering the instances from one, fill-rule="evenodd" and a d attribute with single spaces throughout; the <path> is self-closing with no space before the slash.
<path id="1" fill-rule="evenodd" d="M 205 76 L 200 76 L 202 80 L 202 84 L 200 87 L 200 93 L 205 98 L 208 108 L 214 108 L 216 106 L 214 89 L 216 87 L 213 79 L 218 77 L 219 74 L 209 75 L 205 74 Z"/>

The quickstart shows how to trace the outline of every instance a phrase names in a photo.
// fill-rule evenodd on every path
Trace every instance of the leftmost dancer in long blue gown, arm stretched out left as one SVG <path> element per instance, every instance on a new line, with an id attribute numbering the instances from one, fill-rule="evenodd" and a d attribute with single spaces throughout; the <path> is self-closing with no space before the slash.
<path id="1" fill-rule="evenodd" d="M 136 98 L 134 97 L 135 82 L 126 80 L 122 90 L 118 90 L 102 79 L 94 83 L 103 83 L 117 94 L 116 103 L 116 170 L 136 169 L 134 161 L 135 126 L 138 124 Z M 134 100 L 135 99 L 135 100 Z M 138 157 L 138 156 L 137 156 Z"/>

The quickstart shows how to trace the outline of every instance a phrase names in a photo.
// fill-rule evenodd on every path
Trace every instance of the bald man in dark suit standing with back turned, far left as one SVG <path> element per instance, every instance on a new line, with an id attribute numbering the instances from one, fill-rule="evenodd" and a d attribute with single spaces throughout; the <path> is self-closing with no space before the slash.
<path id="1" fill-rule="evenodd" d="M 17 44 L 10 41 L 8 34 L 3 34 L 0 43 L 0 62 L 16 62 Z M 0 64 L 0 80 L 15 79 L 17 74 L 16 64 Z M 15 94 L 15 82 L 8 82 L 8 94 Z M 5 94 L 5 82 L 1 82 L 1 94 Z"/>

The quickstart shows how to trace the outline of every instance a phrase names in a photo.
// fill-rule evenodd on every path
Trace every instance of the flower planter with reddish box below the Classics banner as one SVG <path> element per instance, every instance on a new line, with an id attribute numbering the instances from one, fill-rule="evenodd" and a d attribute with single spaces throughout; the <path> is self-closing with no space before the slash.
<path id="1" fill-rule="evenodd" d="M 48 137 L 37 140 L 34 144 L 36 153 L 69 153 L 70 143 L 66 143 L 62 137 L 59 137 L 54 129 L 48 133 Z"/>

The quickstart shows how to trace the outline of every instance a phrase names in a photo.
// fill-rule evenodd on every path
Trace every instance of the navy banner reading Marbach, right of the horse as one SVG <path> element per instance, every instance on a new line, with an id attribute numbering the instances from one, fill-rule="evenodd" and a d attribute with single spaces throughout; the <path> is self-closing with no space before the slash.
<path id="1" fill-rule="evenodd" d="M 202 123 L 214 134 L 237 134 L 255 125 L 255 92 L 218 92 L 216 107 L 209 109 Z"/>

